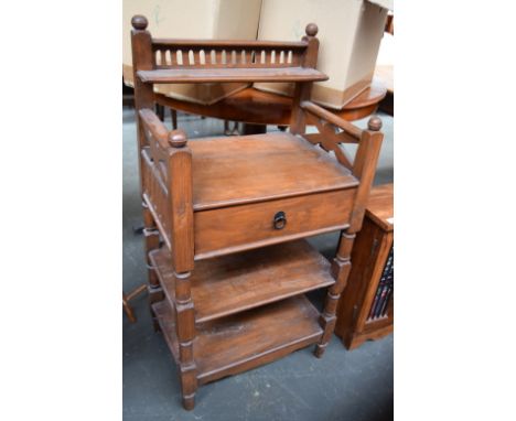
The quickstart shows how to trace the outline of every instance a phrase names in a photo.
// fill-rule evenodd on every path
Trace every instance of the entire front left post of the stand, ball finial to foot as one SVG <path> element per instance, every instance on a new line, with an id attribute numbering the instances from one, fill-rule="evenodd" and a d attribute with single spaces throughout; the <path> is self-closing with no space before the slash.
<path id="1" fill-rule="evenodd" d="M 193 409 L 197 390 L 197 368 L 193 356 L 195 315 L 190 277 L 194 267 L 192 153 L 182 130 L 169 134 L 172 150 L 169 155 L 169 185 L 171 186 L 172 263 L 175 274 L 175 328 L 183 407 Z"/>

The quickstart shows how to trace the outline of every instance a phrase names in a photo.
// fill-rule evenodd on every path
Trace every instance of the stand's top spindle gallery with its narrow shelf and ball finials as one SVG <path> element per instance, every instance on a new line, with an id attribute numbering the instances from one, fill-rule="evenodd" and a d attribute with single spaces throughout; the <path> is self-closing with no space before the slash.
<path id="1" fill-rule="evenodd" d="M 316 25 L 299 42 L 152 39 L 146 25 L 133 21 L 133 56 L 142 54 L 136 84 L 327 80 L 313 63 Z"/>

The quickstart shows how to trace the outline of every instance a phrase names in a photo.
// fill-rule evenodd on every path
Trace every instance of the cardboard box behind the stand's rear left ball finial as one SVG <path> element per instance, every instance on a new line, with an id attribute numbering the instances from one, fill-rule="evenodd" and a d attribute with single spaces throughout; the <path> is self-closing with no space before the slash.
<path id="1" fill-rule="evenodd" d="M 132 86 L 131 18 L 143 14 L 153 37 L 256 40 L 261 0 L 123 0 L 122 72 Z M 172 98 L 209 105 L 249 84 L 155 85 Z"/>

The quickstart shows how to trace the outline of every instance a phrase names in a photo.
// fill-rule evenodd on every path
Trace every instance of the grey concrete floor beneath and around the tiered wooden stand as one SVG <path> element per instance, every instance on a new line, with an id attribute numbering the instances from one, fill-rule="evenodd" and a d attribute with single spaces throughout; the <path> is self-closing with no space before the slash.
<path id="1" fill-rule="evenodd" d="M 393 181 L 393 119 L 380 116 L 386 134 L 375 184 Z M 170 116 L 166 115 L 170 128 Z M 356 123 L 365 127 L 365 120 Z M 179 116 L 189 138 L 223 136 L 216 119 Z M 269 130 L 276 130 L 269 127 Z M 133 110 L 123 109 L 123 290 L 146 280 L 143 239 L 132 233 L 141 224 Z M 353 153 L 353 151 L 351 150 Z M 335 250 L 337 234 L 311 242 L 326 257 Z M 321 307 L 323 293 L 309 296 Z M 147 296 L 131 302 L 138 322 L 123 316 L 123 420 L 288 420 L 372 421 L 393 419 L 393 335 L 346 350 L 336 336 L 322 359 L 313 347 L 272 364 L 201 387 L 193 411 L 184 411 L 178 373 L 159 333 L 154 333 Z"/>

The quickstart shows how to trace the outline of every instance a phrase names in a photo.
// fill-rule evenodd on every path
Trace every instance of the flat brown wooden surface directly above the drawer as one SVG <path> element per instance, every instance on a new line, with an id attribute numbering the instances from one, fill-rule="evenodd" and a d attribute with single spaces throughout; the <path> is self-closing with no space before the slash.
<path id="1" fill-rule="evenodd" d="M 189 147 L 196 210 L 358 184 L 329 153 L 291 133 L 195 139 Z"/>

